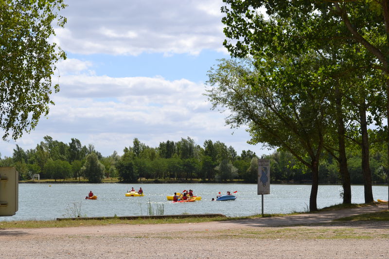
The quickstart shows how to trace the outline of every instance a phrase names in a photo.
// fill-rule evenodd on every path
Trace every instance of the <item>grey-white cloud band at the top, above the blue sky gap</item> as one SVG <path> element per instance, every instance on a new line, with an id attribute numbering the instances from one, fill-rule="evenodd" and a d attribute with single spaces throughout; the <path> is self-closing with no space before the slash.
<path id="1" fill-rule="evenodd" d="M 67 52 L 138 55 L 142 52 L 224 51 L 221 0 L 69 0 L 65 28 L 55 41 Z"/>

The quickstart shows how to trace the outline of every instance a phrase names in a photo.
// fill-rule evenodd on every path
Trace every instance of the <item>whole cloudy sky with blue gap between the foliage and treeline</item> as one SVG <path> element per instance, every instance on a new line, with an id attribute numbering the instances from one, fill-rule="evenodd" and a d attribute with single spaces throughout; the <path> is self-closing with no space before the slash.
<path id="1" fill-rule="evenodd" d="M 207 102 L 207 71 L 229 58 L 221 0 L 66 0 L 65 28 L 55 42 L 68 59 L 58 64 L 48 119 L 30 134 L 3 142 L 35 148 L 44 136 L 69 143 L 78 138 L 102 155 L 123 154 L 134 138 L 150 147 L 166 140 L 222 141 L 238 154 L 269 153 L 248 145 L 248 133 L 225 125 L 227 114 Z M 59 77 L 58 77 L 59 76 Z"/>

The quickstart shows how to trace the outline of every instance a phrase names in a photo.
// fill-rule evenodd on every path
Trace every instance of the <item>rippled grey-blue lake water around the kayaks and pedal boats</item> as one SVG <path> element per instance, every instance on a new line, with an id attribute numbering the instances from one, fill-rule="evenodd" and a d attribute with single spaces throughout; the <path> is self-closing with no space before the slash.
<path id="1" fill-rule="evenodd" d="M 125 197 L 126 190 L 141 187 L 145 196 Z M 182 190 L 194 190 L 203 200 L 188 203 L 172 203 L 167 195 Z M 97 200 L 85 200 L 89 190 Z M 237 190 L 235 201 L 216 201 L 220 191 Z M 289 213 L 306 211 L 309 206 L 310 185 L 277 185 L 270 187 L 271 194 L 264 195 L 264 213 Z M 318 208 L 342 203 L 338 185 L 323 185 L 318 188 Z M 352 202 L 364 203 L 363 186 L 352 186 Z M 373 186 L 374 200 L 388 198 L 387 186 Z M 81 208 L 81 215 L 136 216 L 147 215 L 148 204 L 154 210 L 163 205 L 164 215 L 183 213 L 221 213 L 229 217 L 249 216 L 261 213 L 261 195 L 256 184 L 19 184 L 19 209 L 15 216 L 0 217 L 10 220 L 53 220 L 72 217 L 70 213 Z"/>

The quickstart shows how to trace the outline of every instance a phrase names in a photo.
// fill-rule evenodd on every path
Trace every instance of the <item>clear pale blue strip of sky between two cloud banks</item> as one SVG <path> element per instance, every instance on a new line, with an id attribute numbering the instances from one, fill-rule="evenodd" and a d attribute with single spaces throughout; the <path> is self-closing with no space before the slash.
<path id="1" fill-rule="evenodd" d="M 229 58 L 227 53 L 204 50 L 198 55 L 188 53 L 164 56 L 163 53 L 141 53 L 138 56 L 68 53 L 75 58 L 93 63 L 96 75 L 110 77 L 162 76 L 166 80 L 182 78 L 205 83 L 208 70 L 217 64 L 217 59 Z"/>

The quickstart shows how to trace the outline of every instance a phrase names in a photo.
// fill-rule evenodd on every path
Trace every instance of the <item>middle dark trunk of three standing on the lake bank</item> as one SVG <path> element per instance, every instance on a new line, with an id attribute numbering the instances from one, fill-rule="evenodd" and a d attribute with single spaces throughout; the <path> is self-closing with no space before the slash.
<path id="1" fill-rule="evenodd" d="M 339 172 L 342 177 L 343 185 L 343 204 L 351 204 L 351 182 L 350 173 L 347 168 L 346 144 L 345 144 L 345 129 L 342 113 L 342 97 L 339 88 L 335 88 L 335 104 L 336 104 L 336 123 L 337 137 L 339 145 Z"/>

